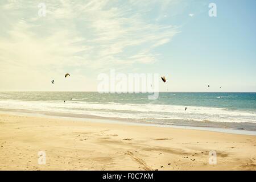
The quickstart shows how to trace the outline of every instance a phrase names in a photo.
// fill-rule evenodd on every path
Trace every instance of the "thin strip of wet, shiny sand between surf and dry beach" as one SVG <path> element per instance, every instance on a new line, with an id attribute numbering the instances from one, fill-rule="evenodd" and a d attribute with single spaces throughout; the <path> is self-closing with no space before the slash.
<path id="1" fill-rule="evenodd" d="M 137 122 L 130 121 L 130 119 L 125 118 L 105 118 L 98 117 L 95 115 L 85 115 L 85 114 L 65 114 L 65 113 L 55 113 L 55 112 L 44 112 L 44 111 L 32 111 L 32 110 L 23 110 L 23 109 L 3 109 L 0 108 L 0 114 L 13 114 L 13 115 L 23 115 L 28 117 L 44 117 L 52 119 L 65 119 L 65 120 L 75 120 L 75 121 L 84 121 L 90 119 L 93 122 L 98 123 L 118 123 L 123 125 L 138 125 L 138 126 L 154 126 L 154 127 L 170 127 L 176 129 L 189 129 L 189 130 L 201 130 L 201 131 L 214 131 L 219 133 L 228 133 L 228 134 L 241 134 L 241 135 L 253 135 L 256 136 L 256 131 L 252 130 L 238 130 L 238 129 L 229 129 L 222 127 L 210 127 L 210 126 L 185 126 L 185 125 L 167 125 L 160 123 L 149 123 L 149 122 Z"/>

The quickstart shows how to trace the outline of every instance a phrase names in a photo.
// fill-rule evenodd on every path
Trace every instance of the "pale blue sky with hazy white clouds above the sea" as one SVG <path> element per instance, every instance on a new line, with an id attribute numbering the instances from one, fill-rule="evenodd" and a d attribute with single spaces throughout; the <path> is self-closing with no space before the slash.
<path id="1" fill-rule="evenodd" d="M 97 91 L 114 69 L 165 76 L 160 91 L 256 92 L 255 0 L 2 0 L 0 22 L 0 91 Z"/>

